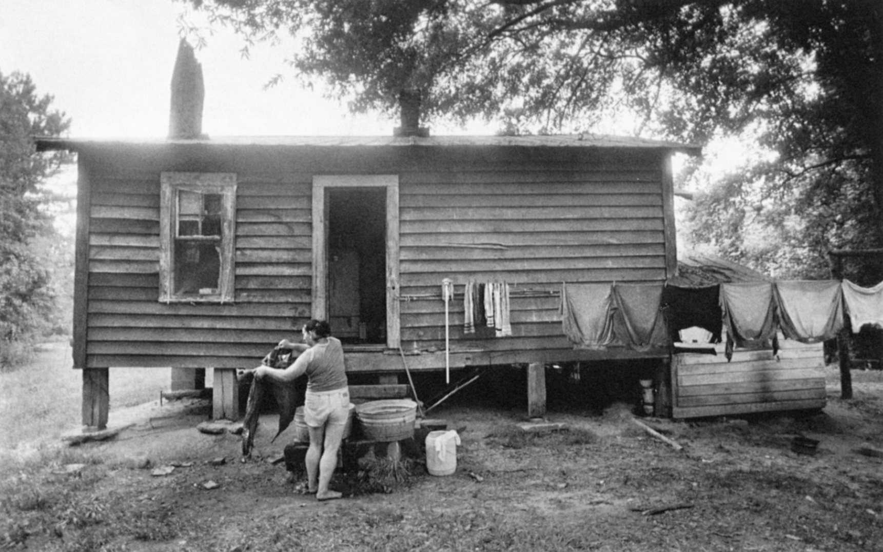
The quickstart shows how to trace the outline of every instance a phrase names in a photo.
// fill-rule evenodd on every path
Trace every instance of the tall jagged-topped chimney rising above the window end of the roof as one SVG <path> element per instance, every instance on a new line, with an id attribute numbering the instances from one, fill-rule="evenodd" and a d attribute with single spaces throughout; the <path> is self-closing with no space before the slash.
<path id="1" fill-rule="evenodd" d="M 177 46 L 175 71 L 171 76 L 169 138 L 205 138 L 202 133 L 202 102 L 206 90 L 202 83 L 202 65 L 184 39 Z"/>

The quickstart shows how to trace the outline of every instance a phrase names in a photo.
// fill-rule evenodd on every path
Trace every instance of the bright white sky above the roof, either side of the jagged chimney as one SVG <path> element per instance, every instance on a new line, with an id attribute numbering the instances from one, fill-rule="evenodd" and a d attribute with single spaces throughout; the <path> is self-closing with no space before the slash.
<path id="1" fill-rule="evenodd" d="M 184 7 L 172 0 L 0 0 L 0 72 L 30 73 L 38 93 L 54 95 L 54 106 L 72 117 L 72 137 L 162 138 Z M 286 72 L 283 49 L 261 45 L 243 59 L 244 42 L 232 32 L 217 29 L 207 39 L 196 57 L 209 136 L 387 135 L 397 125 L 351 116 L 293 78 L 265 90 Z"/>

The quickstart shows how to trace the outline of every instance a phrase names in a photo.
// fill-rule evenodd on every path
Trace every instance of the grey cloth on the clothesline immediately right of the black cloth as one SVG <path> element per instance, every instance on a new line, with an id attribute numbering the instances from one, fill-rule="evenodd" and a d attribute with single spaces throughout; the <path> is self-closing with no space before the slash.
<path id="1" fill-rule="evenodd" d="M 764 344 L 770 340 L 773 342 L 773 354 L 779 352 L 772 283 L 721 284 L 721 312 L 727 327 L 728 360 L 733 358 L 734 346 Z"/>

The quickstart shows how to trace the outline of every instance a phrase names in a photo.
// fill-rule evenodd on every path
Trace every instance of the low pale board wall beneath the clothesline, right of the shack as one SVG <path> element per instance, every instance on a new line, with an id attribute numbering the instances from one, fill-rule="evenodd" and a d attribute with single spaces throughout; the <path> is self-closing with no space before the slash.
<path id="1" fill-rule="evenodd" d="M 672 361 L 672 416 L 697 418 L 751 412 L 823 408 L 822 344 L 781 340 L 781 350 L 736 350 L 732 361 L 679 353 Z"/>

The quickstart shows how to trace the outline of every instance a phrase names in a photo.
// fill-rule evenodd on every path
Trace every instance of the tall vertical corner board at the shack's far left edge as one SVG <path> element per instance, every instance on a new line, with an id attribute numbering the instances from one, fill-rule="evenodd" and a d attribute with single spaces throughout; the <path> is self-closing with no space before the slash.
<path id="1" fill-rule="evenodd" d="M 87 155 L 77 161 L 77 230 L 74 238 L 73 272 L 73 367 L 86 367 L 87 313 L 89 292 L 89 232 L 91 219 L 91 169 Z M 85 376 L 84 376 L 85 377 Z M 84 382 L 85 385 L 85 382 Z M 85 398 L 83 399 L 86 400 Z M 84 410 L 86 408 L 84 402 Z M 86 418 L 84 412 L 84 419 Z"/>

